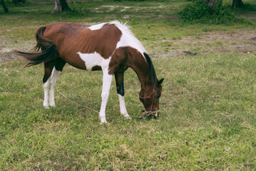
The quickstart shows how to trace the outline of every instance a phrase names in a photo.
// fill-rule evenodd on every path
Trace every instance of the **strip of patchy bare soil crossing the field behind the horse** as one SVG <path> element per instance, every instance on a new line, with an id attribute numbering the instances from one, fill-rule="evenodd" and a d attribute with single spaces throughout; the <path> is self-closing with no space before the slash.
<path id="1" fill-rule="evenodd" d="M 14 59 L 21 60 L 22 58 L 16 56 L 12 51 L 19 46 L 22 46 L 24 51 L 29 51 L 35 45 L 35 41 L 18 42 L 16 46 L 6 45 L 3 43 L 4 40 L 1 42 L 0 63 Z M 165 46 L 163 42 L 169 42 L 169 46 Z M 253 53 L 256 55 L 256 32 L 248 29 L 208 31 L 176 40 L 155 41 L 153 44 L 154 46 L 145 46 L 153 58 L 177 58 L 209 51 Z M 159 46 L 155 46 L 155 44 Z"/>

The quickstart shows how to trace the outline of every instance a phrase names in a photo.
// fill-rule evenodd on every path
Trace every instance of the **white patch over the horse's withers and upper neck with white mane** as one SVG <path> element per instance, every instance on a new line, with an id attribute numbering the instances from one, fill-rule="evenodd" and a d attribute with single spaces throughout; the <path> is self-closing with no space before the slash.
<path id="1" fill-rule="evenodd" d="M 109 24 L 114 24 L 121 30 L 122 36 L 120 41 L 117 43 L 116 48 L 130 46 L 132 48 L 137 49 L 141 55 L 145 58 L 143 53 L 145 53 L 145 48 L 143 45 L 138 41 L 135 36 L 133 36 L 133 33 L 130 31 L 129 27 L 126 24 L 122 24 L 119 21 L 111 21 Z"/>

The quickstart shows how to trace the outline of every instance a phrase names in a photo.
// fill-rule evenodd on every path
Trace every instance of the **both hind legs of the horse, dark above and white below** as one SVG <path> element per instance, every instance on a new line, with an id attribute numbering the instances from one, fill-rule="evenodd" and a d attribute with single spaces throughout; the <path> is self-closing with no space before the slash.
<path id="1" fill-rule="evenodd" d="M 48 106 L 55 106 L 54 102 L 54 86 L 56 84 L 58 76 L 61 75 L 61 71 L 65 66 L 66 62 L 61 58 L 58 58 L 54 62 L 45 63 L 45 73 L 43 76 L 43 89 L 44 89 L 44 100 L 43 106 L 48 108 Z M 49 95 L 49 100 L 48 100 Z"/>

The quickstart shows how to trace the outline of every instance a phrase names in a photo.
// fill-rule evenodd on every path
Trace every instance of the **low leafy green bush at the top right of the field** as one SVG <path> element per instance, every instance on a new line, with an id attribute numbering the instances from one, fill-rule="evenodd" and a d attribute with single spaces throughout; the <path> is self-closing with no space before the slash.
<path id="1" fill-rule="evenodd" d="M 181 20 L 189 23 L 223 24 L 239 21 L 229 6 L 223 6 L 217 2 L 213 11 L 210 11 L 208 4 L 203 0 L 193 0 L 178 13 Z"/>

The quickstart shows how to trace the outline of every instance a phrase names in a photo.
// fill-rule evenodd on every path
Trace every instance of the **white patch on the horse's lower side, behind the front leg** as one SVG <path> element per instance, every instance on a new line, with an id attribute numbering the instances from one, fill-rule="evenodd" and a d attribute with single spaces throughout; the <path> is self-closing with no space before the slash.
<path id="1" fill-rule="evenodd" d="M 86 70 L 91 70 L 93 66 L 101 66 L 104 58 L 97 52 L 81 53 L 78 52 L 80 58 L 86 63 Z"/>

